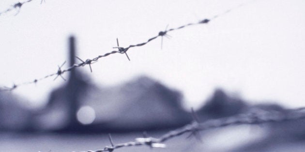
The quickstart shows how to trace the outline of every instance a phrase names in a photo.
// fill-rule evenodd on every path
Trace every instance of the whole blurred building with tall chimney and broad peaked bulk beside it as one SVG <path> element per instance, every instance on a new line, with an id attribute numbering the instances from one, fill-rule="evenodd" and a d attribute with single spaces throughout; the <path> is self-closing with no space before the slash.
<path id="1" fill-rule="evenodd" d="M 70 38 L 70 66 L 75 64 Z M 130 131 L 179 127 L 190 122 L 182 94 L 146 76 L 111 87 L 99 87 L 76 69 L 52 91 L 45 109 L 35 116 L 37 130 Z"/>

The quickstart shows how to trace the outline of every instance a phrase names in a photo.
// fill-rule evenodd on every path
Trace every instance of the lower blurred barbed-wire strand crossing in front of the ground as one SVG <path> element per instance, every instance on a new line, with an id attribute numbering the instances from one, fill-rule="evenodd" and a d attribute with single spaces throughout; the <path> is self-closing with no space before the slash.
<path id="1" fill-rule="evenodd" d="M 178 128 L 176 130 L 169 131 L 160 138 L 147 137 L 147 133 L 143 133 L 143 137 L 136 138 L 134 141 L 113 144 L 113 139 L 109 134 L 109 146 L 105 146 L 103 149 L 95 151 L 83 151 L 83 152 L 113 152 L 116 149 L 122 147 L 131 147 L 131 146 L 149 146 L 150 148 L 166 148 L 164 142 L 168 141 L 171 138 L 178 137 L 185 133 L 191 133 L 191 136 L 195 136 L 198 139 L 199 131 L 205 131 L 209 129 L 221 128 L 229 125 L 241 125 L 241 124 L 265 124 L 265 123 L 276 123 L 276 122 L 286 122 L 293 120 L 305 119 L 305 107 L 290 109 L 285 111 L 256 111 L 249 113 L 242 113 L 236 116 L 231 116 L 227 118 L 207 120 L 203 123 L 199 123 L 197 115 L 192 110 L 192 116 L 194 121 L 190 124 Z M 202 140 L 201 138 L 198 140 Z"/>

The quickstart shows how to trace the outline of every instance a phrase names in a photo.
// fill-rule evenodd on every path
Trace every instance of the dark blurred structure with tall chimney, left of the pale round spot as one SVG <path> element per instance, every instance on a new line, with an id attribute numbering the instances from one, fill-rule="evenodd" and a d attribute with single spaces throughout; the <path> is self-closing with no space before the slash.
<path id="1" fill-rule="evenodd" d="M 75 64 L 75 38 L 69 38 L 69 66 Z M 88 79 L 88 78 L 87 78 Z M 88 80 L 76 69 L 71 69 L 67 83 L 53 90 L 46 108 L 36 115 L 42 130 L 81 131 L 82 125 L 76 118 L 79 104 L 90 87 Z"/>

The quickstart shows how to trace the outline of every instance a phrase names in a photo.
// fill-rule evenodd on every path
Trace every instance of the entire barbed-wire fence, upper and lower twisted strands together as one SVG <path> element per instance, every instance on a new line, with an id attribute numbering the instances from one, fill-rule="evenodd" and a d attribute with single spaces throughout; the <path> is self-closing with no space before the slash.
<path id="1" fill-rule="evenodd" d="M 4 12 L 0 13 L 0 15 L 10 12 L 14 9 L 19 11 L 24 4 L 29 3 L 31 1 L 33 1 L 33 0 L 27 0 L 24 2 L 15 3 L 10 8 L 8 8 Z M 44 0 L 41 0 L 41 3 L 43 1 Z M 188 24 L 185 24 L 185 25 L 177 27 L 177 28 L 170 28 L 170 29 L 165 29 L 164 31 L 159 31 L 156 36 L 149 38 L 147 41 L 144 41 L 142 43 L 137 43 L 137 44 L 131 44 L 125 48 L 120 47 L 119 40 L 117 39 L 117 47 L 114 47 L 117 50 L 113 50 L 104 55 L 98 55 L 92 59 L 86 59 L 86 60 L 82 60 L 80 57 L 76 56 L 76 58 L 79 59 L 81 61 L 81 63 L 74 64 L 73 66 L 71 66 L 67 69 L 61 69 L 61 67 L 65 64 L 65 62 L 63 62 L 63 64 L 61 64 L 61 66 L 58 66 L 58 70 L 52 74 L 48 74 L 41 78 L 36 78 L 29 82 L 14 84 L 12 87 L 3 86 L 3 87 L 0 87 L 0 91 L 12 91 L 19 86 L 35 84 L 35 83 L 38 83 L 39 81 L 42 81 L 49 77 L 55 77 L 54 80 L 56 80 L 58 77 L 61 77 L 63 80 L 65 80 L 64 77 L 62 77 L 62 74 L 66 73 L 66 72 L 70 72 L 72 69 L 76 69 L 76 68 L 83 67 L 83 66 L 89 66 L 89 68 L 91 69 L 91 72 L 92 72 L 92 68 L 91 68 L 92 63 L 99 61 L 103 57 L 107 57 L 107 56 L 113 55 L 113 54 L 124 54 L 124 55 L 126 55 L 127 59 L 130 60 L 127 52 L 134 47 L 140 47 L 140 46 L 146 45 L 147 43 L 157 39 L 158 37 L 161 37 L 161 48 L 162 48 L 163 37 L 168 37 L 169 32 L 174 31 L 174 30 L 179 30 L 182 28 L 187 28 L 187 27 L 190 27 L 193 25 L 208 24 L 209 22 L 213 21 L 214 19 L 216 19 L 224 14 L 229 13 L 233 9 L 242 7 L 245 4 L 246 3 L 240 4 L 237 7 L 231 8 L 221 14 L 214 15 L 212 18 L 209 18 L 209 19 L 206 18 L 206 19 L 202 19 L 196 23 L 188 23 Z M 220 128 L 220 127 L 225 127 L 225 126 L 229 126 L 229 125 L 264 124 L 264 123 L 300 120 L 300 119 L 305 118 L 304 110 L 305 110 L 305 108 L 297 108 L 297 109 L 286 110 L 284 112 L 268 112 L 267 111 L 267 113 L 261 113 L 261 112 L 243 113 L 243 114 L 239 114 L 239 115 L 228 117 L 228 118 L 208 120 L 208 121 L 205 121 L 202 123 L 199 122 L 195 112 L 192 110 L 192 116 L 194 119 L 194 121 L 192 123 L 187 124 L 182 128 L 178 128 L 176 130 L 169 131 L 167 134 L 164 134 L 160 138 L 148 137 L 147 134 L 144 133 L 143 137 L 136 138 L 134 141 L 121 143 L 121 144 L 114 144 L 114 141 L 111 138 L 111 135 L 109 134 L 109 141 L 110 141 L 109 146 L 106 146 L 100 150 L 87 151 L 87 152 L 113 152 L 116 149 L 119 149 L 122 147 L 130 147 L 130 146 L 149 146 L 151 148 L 165 148 L 166 147 L 166 144 L 164 144 L 165 141 L 167 141 L 171 138 L 175 138 L 177 136 L 186 134 L 186 133 L 190 133 L 190 136 L 194 136 L 200 140 L 200 136 L 198 135 L 199 131 Z"/>

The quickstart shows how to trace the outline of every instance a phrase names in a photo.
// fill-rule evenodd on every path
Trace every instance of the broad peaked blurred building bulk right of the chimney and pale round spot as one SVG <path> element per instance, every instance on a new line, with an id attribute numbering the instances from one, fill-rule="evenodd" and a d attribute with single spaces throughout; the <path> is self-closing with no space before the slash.
<path id="1" fill-rule="evenodd" d="M 93 125 L 110 130 L 151 130 L 190 122 L 182 109 L 182 95 L 146 76 L 90 92 L 82 106 L 94 109 Z"/>

